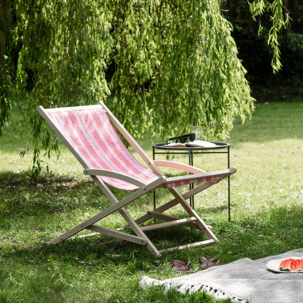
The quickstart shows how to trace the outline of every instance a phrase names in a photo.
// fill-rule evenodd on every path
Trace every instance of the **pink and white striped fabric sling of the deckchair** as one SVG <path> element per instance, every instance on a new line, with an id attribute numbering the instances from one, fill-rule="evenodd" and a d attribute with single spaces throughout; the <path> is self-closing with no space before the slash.
<path id="1" fill-rule="evenodd" d="M 72 143 L 75 150 L 85 158 L 90 168 L 107 169 L 139 179 L 145 184 L 158 179 L 150 169 L 141 165 L 125 147 L 103 108 L 50 112 L 48 116 L 60 132 Z M 108 185 L 136 190 L 136 185 L 116 178 L 98 176 Z M 189 181 L 165 183 L 171 188 L 182 184 L 220 180 L 220 177 L 201 178 Z"/>

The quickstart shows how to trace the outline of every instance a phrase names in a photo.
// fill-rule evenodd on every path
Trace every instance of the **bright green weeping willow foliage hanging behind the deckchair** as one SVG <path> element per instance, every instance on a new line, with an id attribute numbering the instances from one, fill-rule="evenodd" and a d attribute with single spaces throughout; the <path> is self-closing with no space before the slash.
<path id="1" fill-rule="evenodd" d="M 265 9 L 261 2 L 251 4 L 254 17 Z M 224 138 L 235 117 L 250 116 L 254 99 L 221 4 L 3 0 L 0 130 L 16 102 L 18 129 L 28 127 L 34 138 L 34 174 L 41 169 L 41 147 L 59 155 L 37 105 L 93 104 L 112 93 L 114 114 L 134 135 L 146 129 L 176 135 L 193 123 Z M 275 16 L 274 37 L 284 18 Z M 279 68 L 277 60 L 273 66 Z"/>

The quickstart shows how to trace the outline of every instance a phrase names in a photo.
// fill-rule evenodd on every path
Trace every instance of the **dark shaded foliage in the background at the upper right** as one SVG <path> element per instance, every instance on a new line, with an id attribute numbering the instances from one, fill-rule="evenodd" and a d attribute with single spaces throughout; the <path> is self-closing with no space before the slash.
<path id="1" fill-rule="evenodd" d="M 291 95 L 302 95 L 301 78 L 303 70 L 303 2 L 292 0 L 287 3 L 291 15 L 291 28 L 282 29 L 278 35 L 283 68 L 273 73 L 271 60 L 273 50 L 268 45 L 271 28 L 270 17 L 261 17 L 262 35 L 258 36 L 257 22 L 251 18 L 246 0 L 228 0 L 222 7 L 225 18 L 233 25 L 232 36 L 238 47 L 238 58 L 247 70 L 246 78 L 257 101 L 284 100 Z"/>

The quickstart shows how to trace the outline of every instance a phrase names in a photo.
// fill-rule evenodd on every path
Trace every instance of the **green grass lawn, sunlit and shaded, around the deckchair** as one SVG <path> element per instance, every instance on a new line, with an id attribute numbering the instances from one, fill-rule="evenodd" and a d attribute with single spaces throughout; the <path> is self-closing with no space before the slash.
<path id="1" fill-rule="evenodd" d="M 15 117 L 15 115 L 13 115 Z M 215 245 L 164 253 L 155 259 L 145 248 L 106 236 L 47 242 L 88 216 L 110 205 L 97 186 L 82 175 L 81 166 L 62 147 L 62 156 L 47 160 L 52 169 L 37 182 L 30 179 L 31 138 L 20 138 L 12 125 L 0 145 L 0 303 L 2 302 L 220 302 L 196 293 L 166 293 L 159 287 L 139 288 L 142 275 L 173 278 L 175 259 L 192 261 L 199 270 L 200 256 L 217 256 L 223 263 L 239 258 L 257 259 L 303 247 L 303 103 L 258 104 L 252 123 L 235 124 L 231 132 L 231 218 L 227 222 L 227 181 L 195 198 L 195 209 L 213 226 Z M 150 138 L 142 145 L 151 155 Z M 19 152 L 30 148 L 20 159 Z M 160 159 L 160 157 L 158 157 Z M 175 156 L 186 163 L 187 158 Z M 195 155 L 195 165 L 205 170 L 226 168 L 226 155 Z M 168 175 L 177 172 L 164 169 Z M 187 186 L 179 187 L 182 192 Z M 112 189 L 119 199 L 129 192 Z M 170 200 L 168 191 L 157 191 L 157 204 Z M 128 205 L 138 217 L 152 208 L 148 194 Z M 185 217 L 176 207 L 172 215 Z M 118 214 L 102 221 L 117 228 Z M 149 231 L 157 248 L 205 239 L 198 231 L 175 226 Z M 107 254 L 119 254 L 112 257 Z M 182 274 L 180 274 L 182 275 Z M 228 302 L 228 301 L 221 301 Z"/>

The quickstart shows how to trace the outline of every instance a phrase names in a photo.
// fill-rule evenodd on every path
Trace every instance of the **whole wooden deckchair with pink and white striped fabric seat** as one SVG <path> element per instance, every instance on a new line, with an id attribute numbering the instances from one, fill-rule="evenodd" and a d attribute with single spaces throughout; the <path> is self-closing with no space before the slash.
<path id="1" fill-rule="evenodd" d="M 204 223 L 186 200 L 233 174 L 236 172 L 236 168 L 231 167 L 227 170 L 206 172 L 179 162 L 165 160 L 152 161 L 103 102 L 98 102 L 97 105 L 49 109 L 38 106 L 37 109 L 81 163 L 84 168 L 84 175 L 91 176 L 112 203 L 110 207 L 97 215 L 50 241 L 51 244 L 62 242 L 76 235 L 78 232 L 88 229 L 94 233 L 101 233 L 145 245 L 157 257 L 163 251 L 182 250 L 218 241 L 212 232 L 211 226 Z M 128 151 L 113 126 L 134 148 L 148 168 L 140 164 L 132 153 Z M 159 167 L 178 168 L 191 174 L 166 178 Z M 176 189 L 178 185 L 194 182 L 203 183 L 183 195 Z M 106 184 L 121 190 L 134 192 L 118 201 Z M 174 199 L 154 210 L 147 211 L 145 215 L 134 220 L 125 209 L 125 206 L 146 193 L 154 191 L 155 188 L 167 189 L 174 196 Z M 185 209 L 189 218 L 183 219 L 163 214 L 164 211 L 177 204 L 180 204 Z M 115 211 L 118 211 L 122 215 L 127 225 L 113 230 L 95 224 Z M 143 227 L 139 226 L 140 223 L 151 218 L 157 218 L 166 222 Z M 184 225 L 201 230 L 208 240 L 158 250 L 145 234 L 145 231 L 148 230 L 173 225 Z M 136 235 L 123 232 L 122 230 L 125 228 L 132 228 Z"/>

